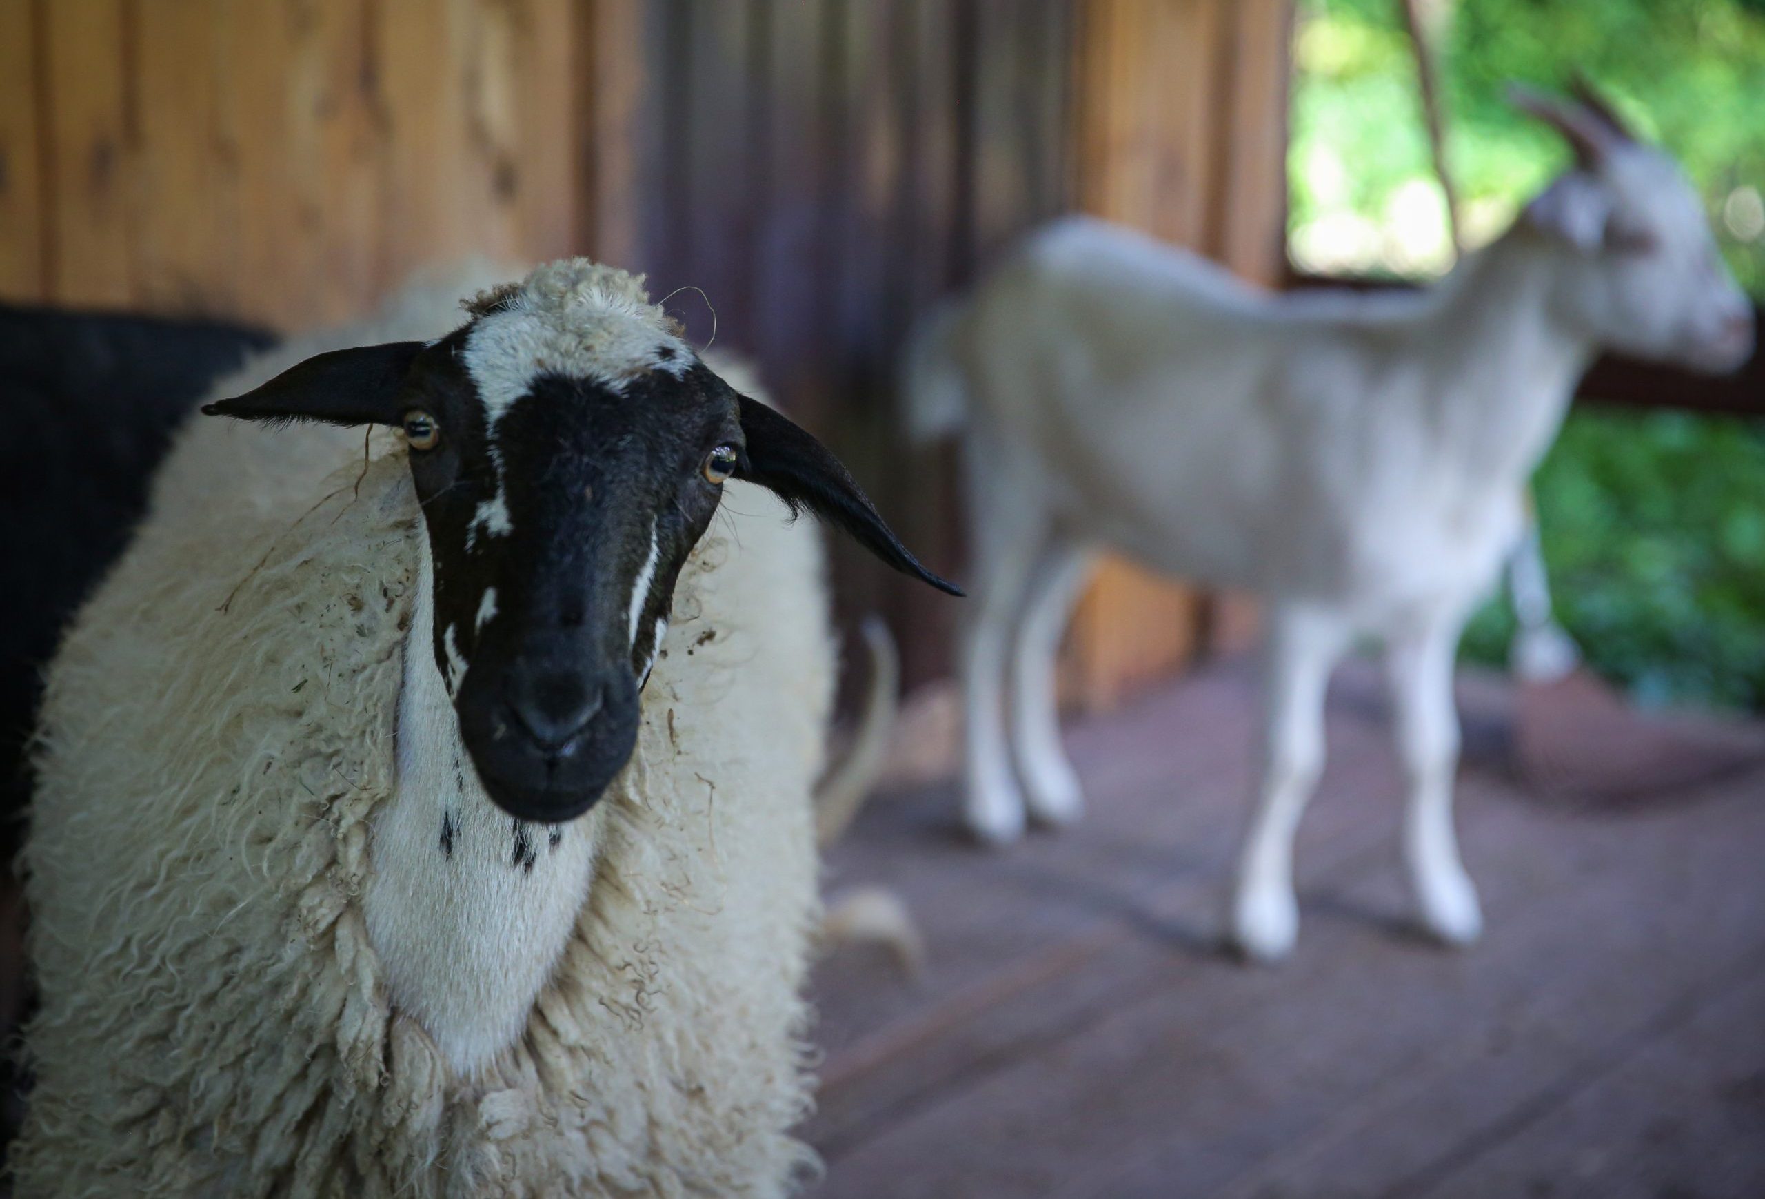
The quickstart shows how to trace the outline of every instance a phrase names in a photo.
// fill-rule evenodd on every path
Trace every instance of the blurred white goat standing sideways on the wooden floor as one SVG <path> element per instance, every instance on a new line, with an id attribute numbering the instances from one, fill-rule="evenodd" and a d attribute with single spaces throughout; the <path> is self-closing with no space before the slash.
<path id="1" fill-rule="evenodd" d="M 1359 635 L 1387 645 L 1423 920 L 1447 942 L 1477 936 L 1451 818 L 1453 654 L 1516 543 L 1527 476 L 1601 349 L 1731 369 L 1753 344 L 1675 164 L 1587 93 L 1520 102 L 1578 164 L 1437 287 L 1267 294 L 1068 219 L 918 337 L 918 432 L 965 421 L 965 815 L 981 838 L 1015 838 L 1025 806 L 1048 822 L 1080 809 L 1054 651 L 1085 550 L 1107 545 L 1267 605 L 1236 942 L 1257 957 L 1294 942 L 1290 850 L 1322 767 L 1324 686 Z"/>

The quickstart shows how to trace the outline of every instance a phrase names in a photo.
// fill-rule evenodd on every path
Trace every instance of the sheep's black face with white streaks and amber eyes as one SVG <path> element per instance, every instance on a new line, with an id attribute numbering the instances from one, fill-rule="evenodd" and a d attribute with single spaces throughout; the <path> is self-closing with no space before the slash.
<path id="1" fill-rule="evenodd" d="M 694 363 L 623 390 L 542 374 L 494 421 L 427 411 L 411 474 L 461 737 L 508 813 L 568 820 L 630 758 L 674 580 L 745 448 L 738 397 Z"/>

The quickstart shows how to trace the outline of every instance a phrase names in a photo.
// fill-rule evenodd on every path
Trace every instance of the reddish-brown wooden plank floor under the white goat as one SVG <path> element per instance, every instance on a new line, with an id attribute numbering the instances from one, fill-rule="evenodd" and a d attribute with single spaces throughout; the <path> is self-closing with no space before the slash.
<path id="1" fill-rule="evenodd" d="M 828 889 L 895 887 L 930 961 L 819 966 L 814 1194 L 1765 1197 L 1765 728 L 1461 681 L 1486 933 L 1447 952 L 1408 931 L 1382 702 L 1345 675 L 1278 968 L 1214 949 L 1241 665 L 1070 730 L 1068 832 L 988 853 L 950 783 L 872 801 Z"/>

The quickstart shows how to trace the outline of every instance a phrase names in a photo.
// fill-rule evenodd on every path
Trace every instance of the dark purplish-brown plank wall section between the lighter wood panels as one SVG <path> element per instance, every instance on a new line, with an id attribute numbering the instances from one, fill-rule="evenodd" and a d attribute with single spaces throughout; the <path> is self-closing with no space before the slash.
<path id="1" fill-rule="evenodd" d="M 650 7 L 653 294 L 755 356 L 934 570 L 964 559 L 953 458 L 907 444 L 895 361 L 937 296 L 1071 206 L 1073 34 L 1066 0 Z M 881 610 L 909 681 L 943 674 L 957 605 L 833 552 L 844 615 Z"/>

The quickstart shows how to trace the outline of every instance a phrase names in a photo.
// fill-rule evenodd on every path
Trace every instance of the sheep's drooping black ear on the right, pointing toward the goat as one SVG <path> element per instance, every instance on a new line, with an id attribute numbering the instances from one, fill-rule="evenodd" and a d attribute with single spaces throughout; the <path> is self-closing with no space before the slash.
<path id="1" fill-rule="evenodd" d="M 743 395 L 740 404 L 741 436 L 748 444 L 736 467 L 736 478 L 771 490 L 791 511 L 808 508 L 900 573 L 953 596 L 962 594 L 960 587 L 920 564 L 824 444 L 759 400 Z"/>

